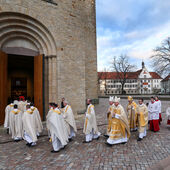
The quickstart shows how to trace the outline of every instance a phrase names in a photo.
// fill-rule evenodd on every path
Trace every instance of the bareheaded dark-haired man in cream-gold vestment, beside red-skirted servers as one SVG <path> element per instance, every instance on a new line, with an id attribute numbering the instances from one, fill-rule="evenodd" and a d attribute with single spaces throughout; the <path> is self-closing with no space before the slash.
<path id="1" fill-rule="evenodd" d="M 137 141 L 141 141 L 144 137 L 146 137 L 146 130 L 148 125 L 148 108 L 143 103 L 143 99 L 139 99 L 139 105 L 137 106 L 137 114 L 138 114 L 138 132 L 139 137 Z"/>

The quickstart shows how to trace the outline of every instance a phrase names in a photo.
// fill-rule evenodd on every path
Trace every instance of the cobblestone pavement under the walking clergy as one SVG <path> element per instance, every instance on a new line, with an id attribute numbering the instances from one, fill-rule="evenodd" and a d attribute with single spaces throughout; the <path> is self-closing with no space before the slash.
<path id="1" fill-rule="evenodd" d="M 106 129 L 106 110 L 108 99 L 100 99 L 96 105 L 96 115 L 99 130 L 102 134 Z M 126 101 L 122 100 L 125 107 Z M 170 102 L 163 101 L 163 112 Z M 51 153 L 46 131 L 35 147 L 28 148 L 24 141 L 15 143 L 10 136 L 0 133 L 0 169 L 146 169 L 170 155 L 170 129 L 166 127 L 166 117 L 163 113 L 163 123 L 158 133 L 148 130 L 147 137 L 137 142 L 137 132 L 131 134 L 125 145 L 107 147 L 106 138 L 101 136 L 89 144 L 83 144 L 83 118 L 77 121 L 76 138 L 59 153 Z"/>

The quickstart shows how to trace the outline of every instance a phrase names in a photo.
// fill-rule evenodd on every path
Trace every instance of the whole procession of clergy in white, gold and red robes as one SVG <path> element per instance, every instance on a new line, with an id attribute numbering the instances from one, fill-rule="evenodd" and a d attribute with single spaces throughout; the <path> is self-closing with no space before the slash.
<path id="1" fill-rule="evenodd" d="M 125 144 L 128 142 L 131 133 L 138 131 L 137 141 L 146 137 L 148 124 L 153 132 L 160 130 L 162 121 L 161 101 L 158 97 L 151 97 L 149 103 L 144 104 L 142 98 L 135 103 L 133 97 L 128 96 L 128 105 L 124 109 L 117 96 L 109 98 L 107 113 L 107 129 L 104 136 L 106 144 Z M 166 110 L 167 125 L 170 126 L 170 107 Z M 24 97 L 14 100 L 5 109 L 4 127 L 12 135 L 16 142 L 24 139 L 28 147 L 35 146 L 38 137 L 43 131 L 40 113 L 33 103 L 25 101 Z M 52 143 L 52 153 L 59 152 L 72 141 L 76 136 L 77 127 L 71 106 L 65 98 L 62 98 L 61 106 L 56 103 L 49 103 L 49 111 L 46 116 L 46 128 L 49 142 Z M 87 100 L 84 128 L 85 140 L 89 143 L 98 140 L 101 133 L 98 131 L 95 108 L 91 100 Z"/>

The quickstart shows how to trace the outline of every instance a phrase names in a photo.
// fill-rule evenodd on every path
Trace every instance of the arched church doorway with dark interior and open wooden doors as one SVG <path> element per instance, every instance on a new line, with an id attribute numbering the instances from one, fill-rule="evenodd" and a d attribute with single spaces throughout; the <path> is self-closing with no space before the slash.
<path id="1" fill-rule="evenodd" d="M 56 54 L 54 39 L 39 21 L 0 13 L 0 124 L 10 98 L 24 95 L 44 115 L 44 57 Z"/>

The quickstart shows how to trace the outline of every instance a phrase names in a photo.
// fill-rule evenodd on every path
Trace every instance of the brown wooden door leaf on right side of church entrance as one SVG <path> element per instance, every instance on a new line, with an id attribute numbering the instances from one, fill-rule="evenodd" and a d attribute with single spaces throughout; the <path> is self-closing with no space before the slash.
<path id="1" fill-rule="evenodd" d="M 34 57 L 34 104 L 43 119 L 43 55 Z"/>

